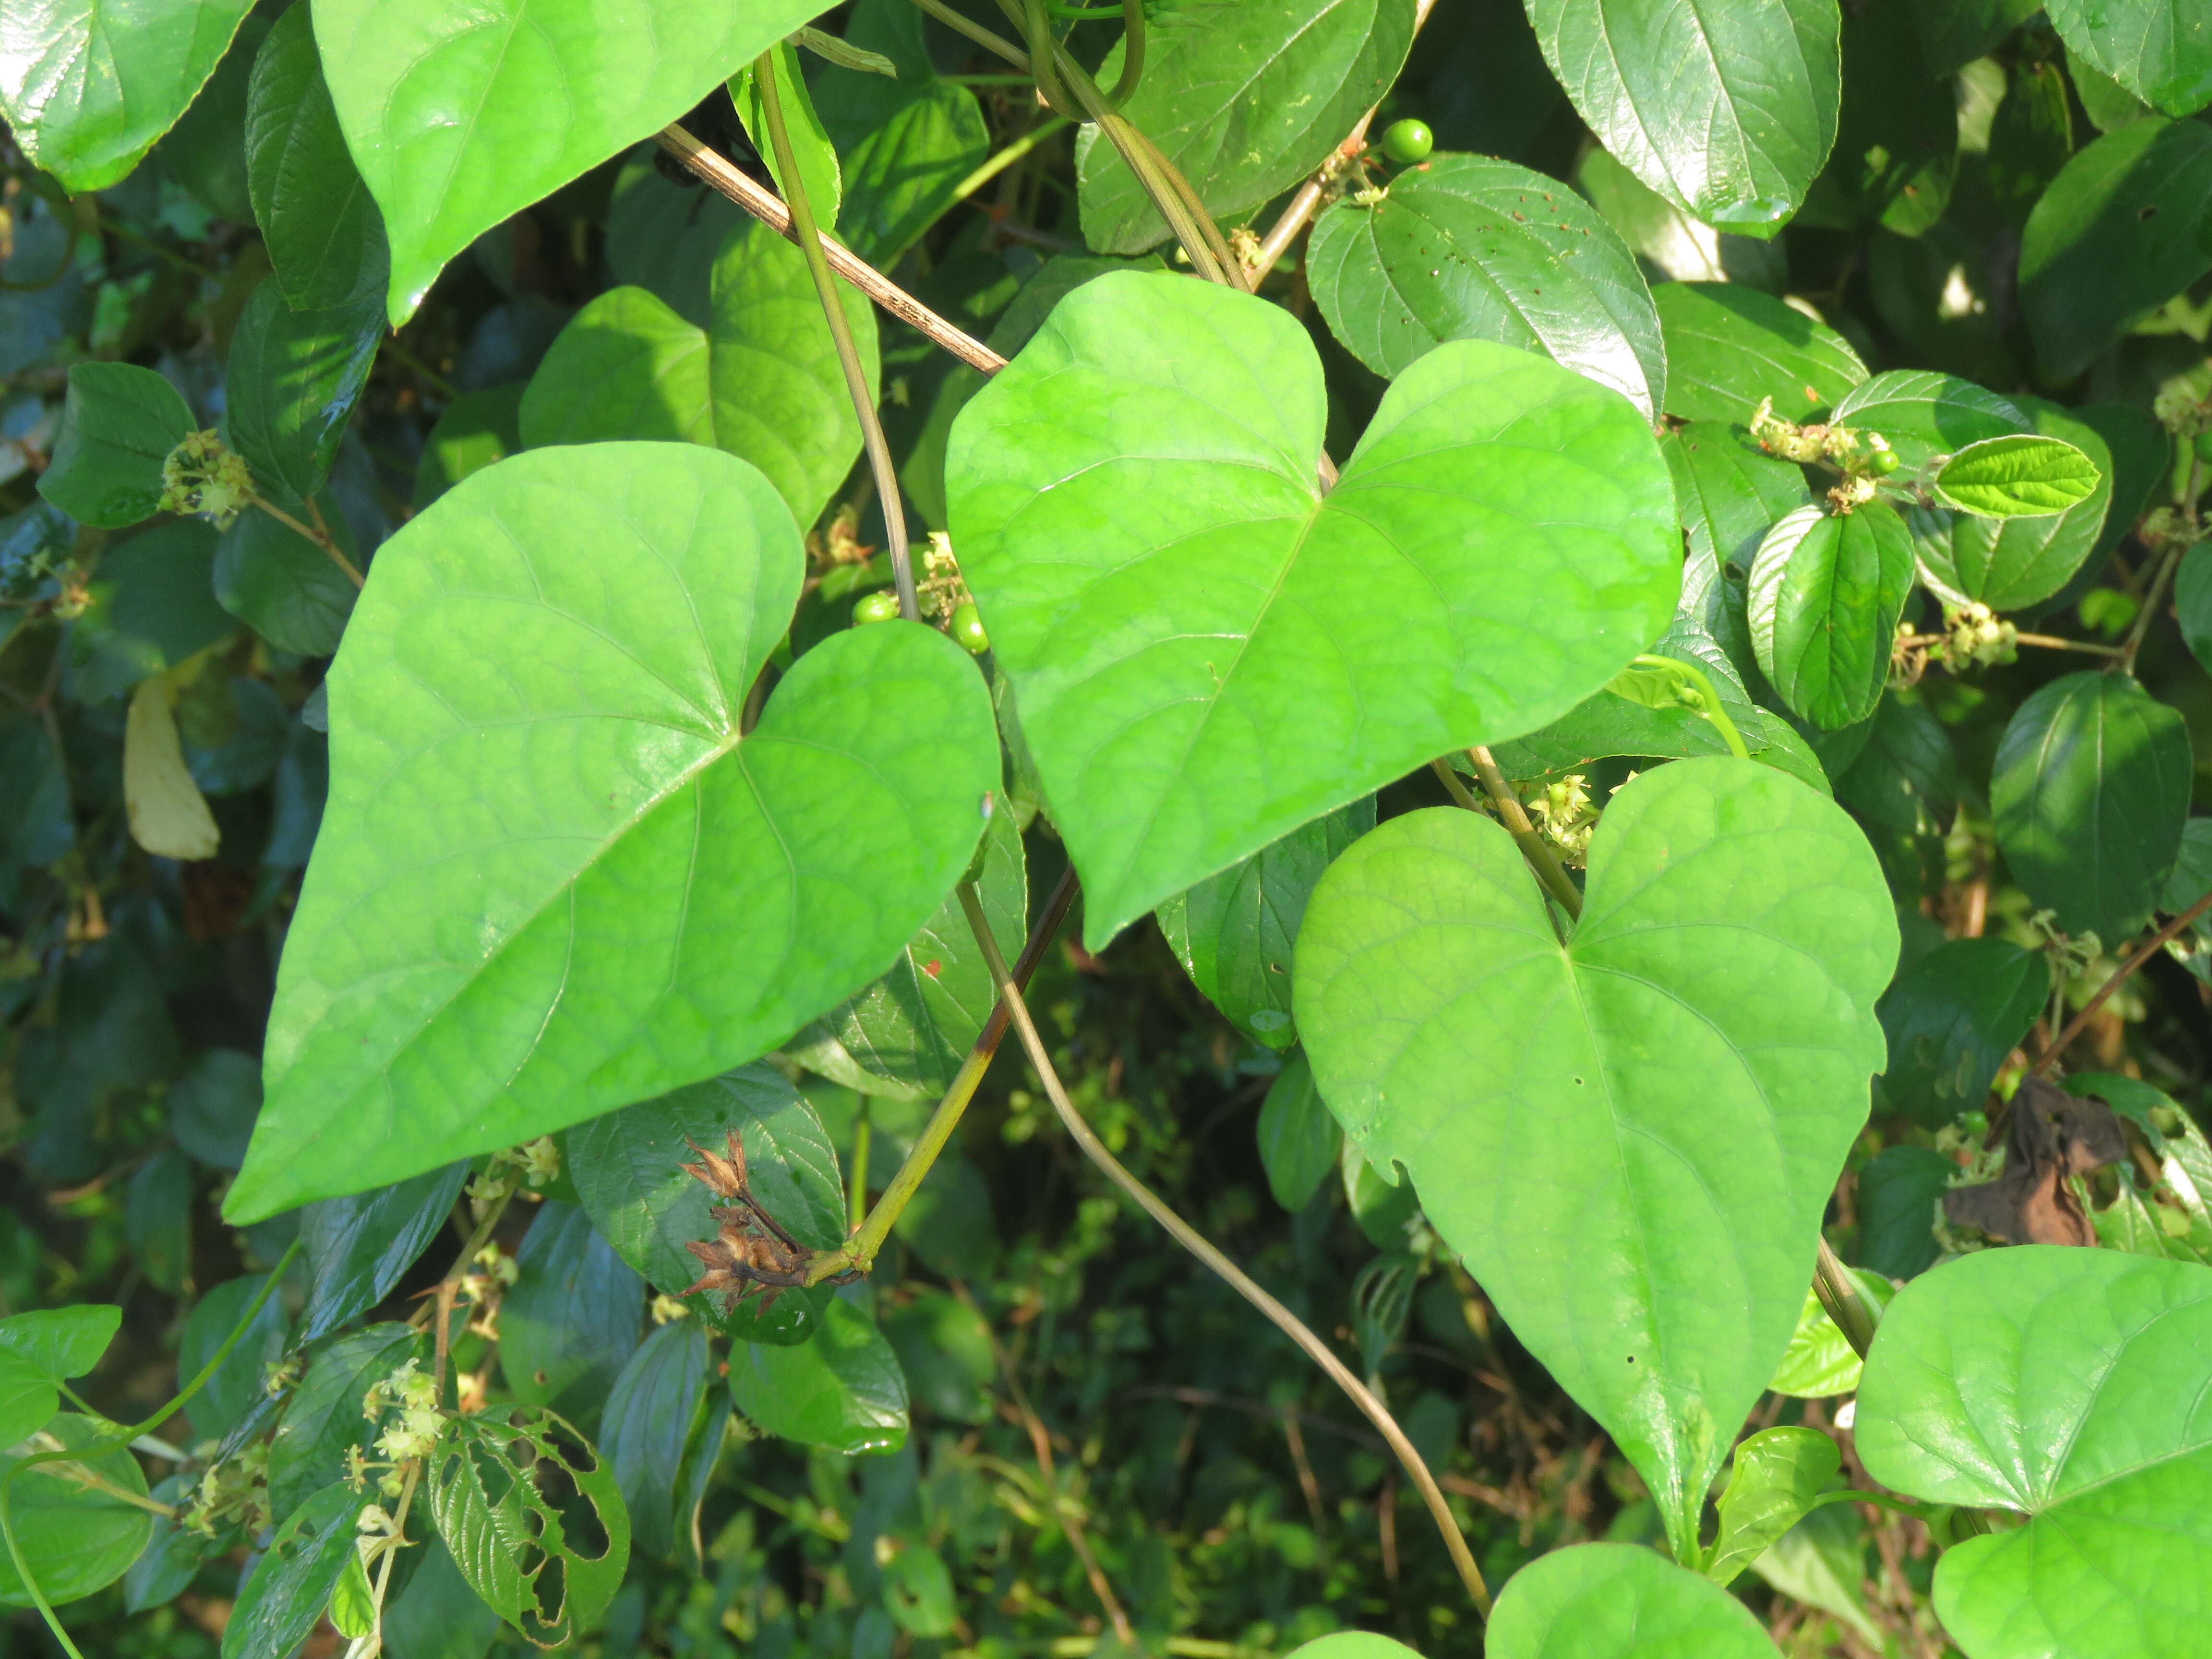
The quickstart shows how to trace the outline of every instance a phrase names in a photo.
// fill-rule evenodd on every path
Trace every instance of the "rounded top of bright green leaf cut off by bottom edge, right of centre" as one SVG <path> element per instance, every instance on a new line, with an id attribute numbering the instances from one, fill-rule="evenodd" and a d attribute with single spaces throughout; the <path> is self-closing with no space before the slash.
<path id="1" fill-rule="evenodd" d="M 1637 1544 L 1577 1544 L 1511 1579 L 1489 1659 L 1774 1659 L 1759 1619 L 1712 1579 Z"/>

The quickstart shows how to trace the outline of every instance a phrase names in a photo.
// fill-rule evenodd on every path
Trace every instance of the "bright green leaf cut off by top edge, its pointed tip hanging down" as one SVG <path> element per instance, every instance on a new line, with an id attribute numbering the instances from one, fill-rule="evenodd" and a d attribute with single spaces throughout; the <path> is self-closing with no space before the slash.
<path id="1" fill-rule="evenodd" d="M 675 122 L 821 9 L 818 0 L 323 0 L 314 40 L 345 144 L 392 239 L 394 327 L 484 230 Z"/>

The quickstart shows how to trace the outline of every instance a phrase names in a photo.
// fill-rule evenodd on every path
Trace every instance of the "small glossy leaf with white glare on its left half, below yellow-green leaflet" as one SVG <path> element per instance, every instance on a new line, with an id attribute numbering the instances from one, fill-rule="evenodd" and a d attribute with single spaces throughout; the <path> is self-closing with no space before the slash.
<path id="1" fill-rule="evenodd" d="M 1874 714 L 1913 591 L 1913 538 L 1887 502 L 1801 507 L 1759 544 L 1747 615 L 1781 699 L 1827 732 Z"/>

